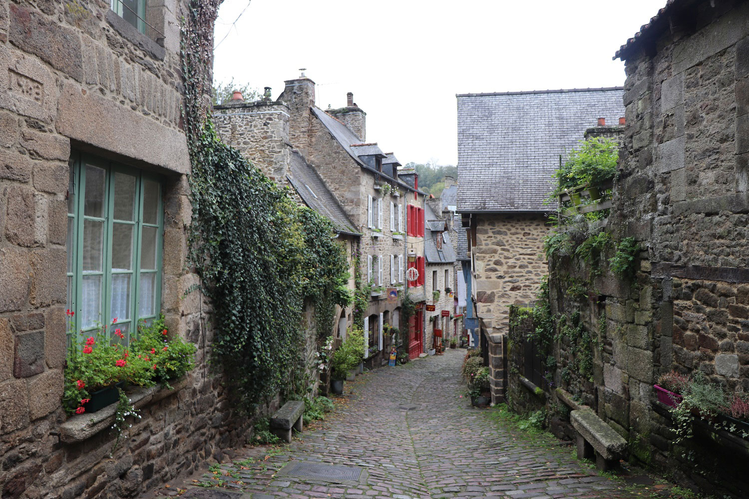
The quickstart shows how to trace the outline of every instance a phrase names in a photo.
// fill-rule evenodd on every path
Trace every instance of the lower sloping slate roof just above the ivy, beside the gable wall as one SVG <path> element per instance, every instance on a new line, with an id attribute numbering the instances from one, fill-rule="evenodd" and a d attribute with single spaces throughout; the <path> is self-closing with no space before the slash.
<path id="1" fill-rule="evenodd" d="M 359 235 L 336 197 L 323 183 L 315 168 L 296 151 L 291 151 L 291 165 L 286 175 L 304 203 L 333 222 L 341 233 Z"/>

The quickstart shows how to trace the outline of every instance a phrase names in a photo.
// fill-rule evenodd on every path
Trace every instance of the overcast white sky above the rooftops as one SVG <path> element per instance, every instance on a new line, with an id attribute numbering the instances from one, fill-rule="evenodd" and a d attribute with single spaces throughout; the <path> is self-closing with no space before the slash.
<path id="1" fill-rule="evenodd" d="M 455 165 L 455 94 L 624 85 L 611 57 L 665 3 L 225 0 L 214 75 L 276 99 L 306 67 L 318 107 L 354 92 L 368 142 L 403 164 Z"/>

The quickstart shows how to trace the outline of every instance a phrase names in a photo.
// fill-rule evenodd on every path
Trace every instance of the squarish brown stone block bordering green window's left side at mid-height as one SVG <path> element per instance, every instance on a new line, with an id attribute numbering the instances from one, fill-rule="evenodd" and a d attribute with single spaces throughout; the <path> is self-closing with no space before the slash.
<path id="1" fill-rule="evenodd" d="M 64 303 L 67 299 L 67 278 L 64 249 L 34 251 L 31 255 L 31 303 L 44 307 Z"/>

